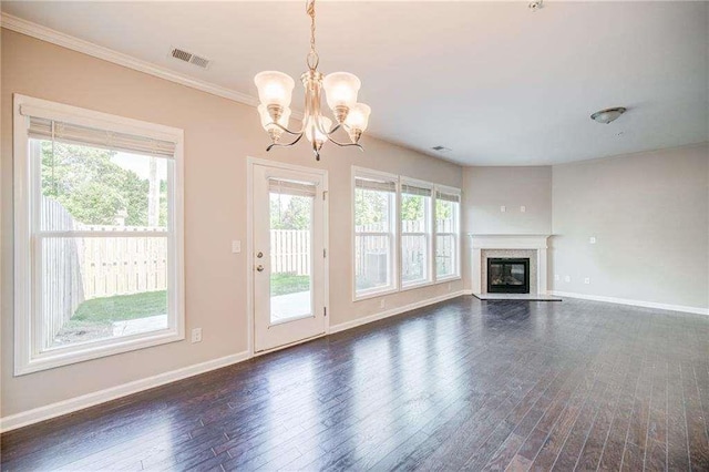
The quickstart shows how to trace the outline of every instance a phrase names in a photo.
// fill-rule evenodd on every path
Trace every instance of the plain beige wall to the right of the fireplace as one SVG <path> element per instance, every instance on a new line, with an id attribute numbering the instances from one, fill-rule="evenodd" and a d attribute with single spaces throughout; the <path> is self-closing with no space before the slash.
<path id="1" fill-rule="evenodd" d="M 555 165 L 553 175 L 552 289 L 709 307 L 709 145 Z"/>

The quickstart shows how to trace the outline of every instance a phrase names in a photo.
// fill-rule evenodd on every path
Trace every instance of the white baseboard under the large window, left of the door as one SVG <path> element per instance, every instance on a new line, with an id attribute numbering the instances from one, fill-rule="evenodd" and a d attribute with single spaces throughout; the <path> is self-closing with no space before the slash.
<path id="1" fill-rule="evenodd" d="M 158 373 L 157 376 L 136 380 L 130 383 L 124 383 L 117 387 L 112 387 L 110 389 L 100 390 L 97 392 L 86 393 L 81 397 L 59 401 L 56 403 L 23 411 L 10 417 L 0 418 L 0 432 L 10 431 L 17 428 L 25 427 L 28 424 L 49 420 L 51 418 L 61 417 L 62 414 L 83 410 L 84 408 L 93 407 L 99 403 L 104 403 L 106 401 L 115 400 L 117 398 L 125 397 L 132 393 L 137 393 L 143 390 L 164 386 L 165 383 L 186 379 L 188 377 L 197 376 L 210 370 L 220 369 L 233 363 L 242 362 L 248 358 L 248 352 L 244 351 L 219 359 L 196 363 L 194 366 L 184 367 L 182 369 L 172 370 L 169 372 Z"/>

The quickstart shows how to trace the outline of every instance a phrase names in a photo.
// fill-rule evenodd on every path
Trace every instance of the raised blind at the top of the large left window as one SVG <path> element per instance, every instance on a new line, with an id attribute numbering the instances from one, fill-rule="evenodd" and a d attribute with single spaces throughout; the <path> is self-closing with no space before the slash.
<path id="1" fill-rule="evenodd" d="M 28 136 L 68 144 L 91 145 L 127 153 L 173 158 L 175 143 L 29 116 Z"/>

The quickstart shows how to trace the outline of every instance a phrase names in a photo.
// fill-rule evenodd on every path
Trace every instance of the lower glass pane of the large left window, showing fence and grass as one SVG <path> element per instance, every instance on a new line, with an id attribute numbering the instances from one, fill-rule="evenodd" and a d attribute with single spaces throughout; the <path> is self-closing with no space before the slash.
<path id="1" fill-rule="evenodd" d="M 168 327 L 166 237 L 41 239 L 41 350 Z"/>

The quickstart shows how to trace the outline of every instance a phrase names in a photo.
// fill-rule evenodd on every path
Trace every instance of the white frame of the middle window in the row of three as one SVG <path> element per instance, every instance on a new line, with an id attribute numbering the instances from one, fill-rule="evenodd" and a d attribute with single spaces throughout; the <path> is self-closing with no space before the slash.
<path id="1" fill-rule="evenodd" d="M 424 218 L 425 218 L 425 232 L 424 233 L 404 233 L 403 232 L 403 225 L 401 223 L 401 204 L 402 204 L 402 199 L 403 199 L 403 186 L 404 185 L 411 185 L 411 186 L 417 186 L 417 187 L 421 187 L 421 188 L 428 188 L 431 191 L 431 197 L 429 199 L 429 207 L 425 209 L 425 214 L 424 214 Z M 400 287 L 401 287 L 401 291 L 403 290 L 411 290 L 413 288 L 420 288 L 420 287 L 425 287 L 428 285 L 433 285 L 434 280 L 435 280 L 435 253 L 434 250 L 434 246 L 433 246 L 433 225 L 435 224 L 435 220 L 433 219 L 433 215 L 435 212 L 435 185 L 430 183 L 430 182 L 425 182 L 425 181 L 419 181 L 415 178 L 411 178 L 411 177 L 399 177 L 399 206 L 398 206 L 398 211 L 397 211 L 397 217 L 398 217 L 398 224 L 399 224 L 399 233 L 397 235 L 397 240 L 398 240 L 398 247 L 399 247 L 399 274 L 400 274 Z M 427 274 L 425 274 L 425 279 L 424 280 L 417 280 L 413 283 L 404 283 L 403 281 L 403 236 L 425 236 L 425 242 L 427 242 Z"/>

